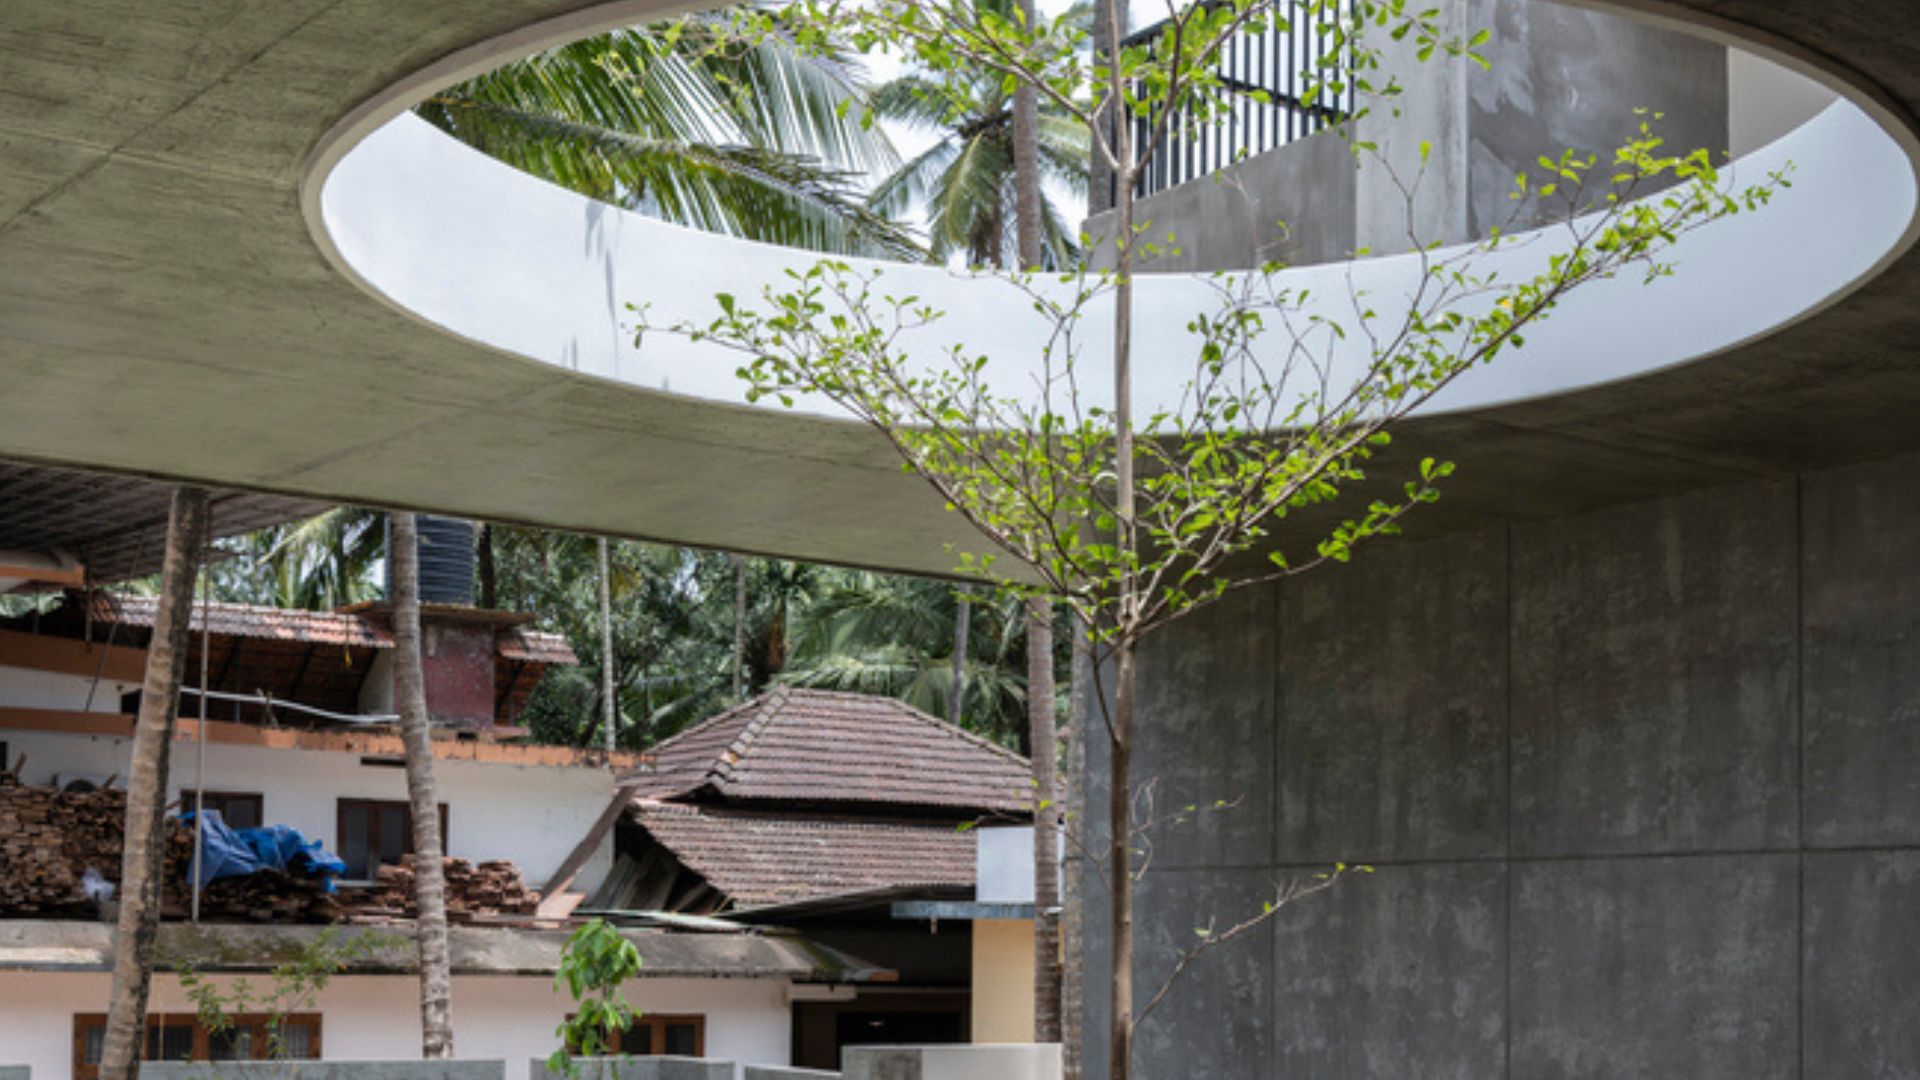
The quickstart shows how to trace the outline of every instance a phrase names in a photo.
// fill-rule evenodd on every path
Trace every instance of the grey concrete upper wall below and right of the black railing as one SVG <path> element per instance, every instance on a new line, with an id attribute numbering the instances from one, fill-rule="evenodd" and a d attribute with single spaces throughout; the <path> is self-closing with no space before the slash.
<path id="1" fill-rule="evenodd" d="M 1665 113 L 1668 148 L 1728 150 L 1728 52 L 1718 44 L 1546 0 L 1446 0 L 1434 10 L 1461 37 L 1490 31 L 1480 52 L 1492 67 L 1421 61 L 1411 38 L 1377 42 L 1382 69 L 1373 79 L 1394 77 L 1404 92 L 1375 102 L 1354 138 L 1375 142 L 1392 171 L 1371 158 L 1356 165 L 1348 140 L 1329 131 L 1156 192 L 1135 208 L 1164 246 L 1146 267 L 1319 263 L 1356 250 L 1405 252 L 1415 236 L 1452 244 L 1538 225 L 1542 208 L 1509 198 L 1515 173 L 1563 150 L 1611 160 L 1638 129 L 1636 108 Z M 1740 88 L 1753 94 L 1741 113 L 1747 138 L 1791 127 L 1805 110 L 1797 85 L 1763 67 L 1741 69 Z M 1094 215 L 1087 231 L 1104 236 L 1108 223 Z"/>

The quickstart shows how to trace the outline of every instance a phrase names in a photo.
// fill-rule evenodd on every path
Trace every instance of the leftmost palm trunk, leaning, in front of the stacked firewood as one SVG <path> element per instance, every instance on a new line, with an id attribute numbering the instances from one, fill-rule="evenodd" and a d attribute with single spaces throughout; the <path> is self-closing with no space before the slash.
<path id="1" fill-rule="evenodd" d="M 167 757 L 180 715 L 194 611 L 194 563 L 207 538 L 207 490 L 175 488 L 167 515 L 167 553 L 159 571 L 159 609 L 146 648 L 140 717 L 127 769 L 127 842 L 121 851 L 119 926 L 113 932 L 113 984 L 100 1051 L 102 1080 L 134 1080 L 146 1042 L 146 995 L 159 936 L 159 890 L 165 876 Z M 205 738 L 205 732 L 200 732 Z"/>

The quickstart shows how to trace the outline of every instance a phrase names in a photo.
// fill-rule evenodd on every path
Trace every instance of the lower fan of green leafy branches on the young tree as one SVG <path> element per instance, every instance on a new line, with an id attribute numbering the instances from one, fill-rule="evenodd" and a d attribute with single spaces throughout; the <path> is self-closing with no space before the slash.
<path id="1" fill-rule="evenodd" d="M 1649 117 L 1607 167 L 1561 154 L 1542 158 L 1540 175 L 1563 208 L 1563 250 L 1528 277 L 1484 267 L 1515 242 L 1503 236 L 1448 256 L 1421 250 L 1417 288 L 1388 311 L 1363 294 L 1315 304 L 1281 265 L 1217 275 L 1213 307 L 1187 325 L 1185 394 L 1148 417 L 1083 402 L 1075 371 L 1081 323 L 1104 317 L 1108 300 L 1129 304 L 1123 273 L 1012 279 L 1052 327 L 1035 344 L 1039 398 L 991 386 L 989 357 L 964 348 L 945 363 L 910 357 L 902 342 L 941 311 L 887 292 L 885 271 L 837 259 L 791 271 L 755 302 L 720 296 L 714 319 L 670 329 L 737 352 L 749 400 L 824 396 L 889 438 L 983 536 L 979 550 L 960 552 L 962 571 L 1002 578 L 995 561 L 1012 557 L 1108 640 L 1139 640 L 1229 588 L 1346 561 L 1365 540 L 1398 532 L 1453 467 L 1421 461 L 1394 490 L 1369 488 L 1392 425 L 1524 344 L 1526 327 L 1572 290 L 1670 273 L 1661 254 L 1678 236 L 1753 209 L 1786 183 L 1728 188 L 1705 150 L 1665 154 Z M 1661 194 L 1642 198 L 1647 190 Z M 1342 367 L 1336 357 L 1354 350 L 1361 363 Z M 1121 473 L 1131 475 L 1125 498 Z M 1325 517 L 1356 492 L 1367 492 L 1363 505 L 1321 527 L 1309 550 L 1275 544 L 1281 521 Z M 1248 573 L 1240 555 L 1256 550 L 1269 565 Z"/>

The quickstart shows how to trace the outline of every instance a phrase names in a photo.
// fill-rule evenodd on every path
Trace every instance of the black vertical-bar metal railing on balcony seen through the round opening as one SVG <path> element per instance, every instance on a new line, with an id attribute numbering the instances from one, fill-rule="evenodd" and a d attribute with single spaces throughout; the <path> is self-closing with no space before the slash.
<path id="1" fill-rule="evenodd" d="M 1290 6 L 1281 0 L 1277 8 L 1288 13 Z M 1167 121 L 1165 136 L 1140 173 L 1135 196 L 1150 196 L 1217 173 L 1242 158 L 1323 131 L 1354 111 L 1352 79 L 1342 79 L 1338 94 L 1321 92 L 1313 104 L 1300 100 L 1311 73 L 1321 69 L 1334 46 L 1332 35 L 1327 33 L 1331 19 L 1313 19 L 1304 12 L 1290 12 L 1290 17 L 1292 25 L 1286 29 L 1273 25 L 1227 38 L 1215 63 L 1219 83 L 1227 90 L 1225 110 L 1208 119 L 1192 115 L 1188 108 L 1179 110 Z M 1160 21 L 1135 31 L 1123 44 L 1152 44 L 1165 27 L 1167 21 Z M 1135 146 L 1152 133 L 1154 119 L 1154 115 L 1131 117 Z"/>

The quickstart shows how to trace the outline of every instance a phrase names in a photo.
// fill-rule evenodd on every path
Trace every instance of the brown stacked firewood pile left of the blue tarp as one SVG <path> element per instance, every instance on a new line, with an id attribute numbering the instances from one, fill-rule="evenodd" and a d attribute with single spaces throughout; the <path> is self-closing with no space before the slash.
<path id="1" fill-rule="evenodd" d="M 0 773 L 0 915 L 92 911 L 81 880 L 92 869 L 119 886 L 125 836 L 127 792 L 33 788 Z M 184 888 L 194 836 L 169 821 L 165 844 L 163 880 Z"/>

